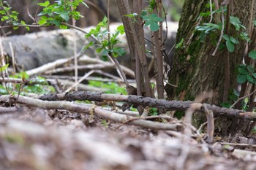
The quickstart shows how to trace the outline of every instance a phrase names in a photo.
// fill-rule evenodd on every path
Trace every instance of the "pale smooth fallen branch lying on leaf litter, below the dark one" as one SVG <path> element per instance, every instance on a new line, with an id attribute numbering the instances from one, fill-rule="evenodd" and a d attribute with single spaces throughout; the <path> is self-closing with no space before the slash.
<path id="1" fill-rule="evenodd" d="M 10 99 L 14 99 L 19 104 L 28 104 L 33 107 L 40 107 L 42 109 L 66 109 L 71 112 L 78 112 L 87 115 L 96 115 L 108 120 L 115 121 L 117 123 L 126 123 L 132 117 L 127 115 L 121 115 L 116 112 L 111 112 L 95 105 L 77 104 L 70 101 L 42 101 L 40 99 L 29 98 L 25 96 L 12 96 L 2 95 L 0 96 L 1 102 L 7 102 Z M 157 123 L 149 120 L 132 120 L 132 125 L 139 125 L 143 128 L 150 128 L 153 130 L 166 130 L 166 131 L 183 131 L 184 125 L 181 123 Z"/>

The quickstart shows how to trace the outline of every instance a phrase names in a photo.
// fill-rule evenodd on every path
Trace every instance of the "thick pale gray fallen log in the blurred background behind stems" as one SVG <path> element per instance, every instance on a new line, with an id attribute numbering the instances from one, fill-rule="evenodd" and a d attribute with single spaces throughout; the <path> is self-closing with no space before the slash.
<path id="1" fill-rule="evenodd" d="M 110 25 L 110 32 L 114 32 L 121 24 L 122 23 L 112 23 Z M 85 28 L 84 30 L 89 32 L 91 28 L 94 27 Z M 163 28 L 165 28 L 165 26 Z M 168 53 L 170 48 L 175 44 L 177 28 L 178 23 L 168 22 L 168 36 L 165 45 L 166 53 Z M 150 31 L 147 30 L 146 36 L 148 39 L 150 39 L 150 34 Z M 124 42 L 121 44 L 121 46 L 127 47 L 125 35 L 120 36 L 120 39 L 122 42 Z M 19 36 L 7 36 L 1 40 L 4 53 L 9 57 L 10 61 L 12 60 L 11 49 L 14 50 L 15 65 L 18 66 L 18 71 L 34 69 L 44 65 L 45 63 L 50 63 L 60 58 L 71 57 L 74 55 L 74 41 L 77 42 L 77 52 L 79 52 L 85 45 L 88 45 L 89 42 L 94 41 L 94 39 L 86 38 L 84 33 L 74 29 L 59 29 Z M 86 50 L 86 55 L 94 58 L 99 54 L 96 53 L 95 47 L 91 47 Z M 170 58 L 172 58 L 172 56 L 173 53 L 170 54 Z M 118 61 L 120 63 L 124 63 L 124 66 L 131 68 L 128 53 L 127 56 L 118 58 Z"/>

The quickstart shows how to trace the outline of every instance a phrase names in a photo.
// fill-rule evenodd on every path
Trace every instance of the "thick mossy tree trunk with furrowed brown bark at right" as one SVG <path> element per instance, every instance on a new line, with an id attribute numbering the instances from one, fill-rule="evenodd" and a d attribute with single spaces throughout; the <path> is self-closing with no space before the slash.
<path id="1" fill-rule="evenodd" d="M 196 96 L 203 92 L 213 91 L 213 96 L 208 98 L 210 104 L 221 104 L 224 101 L 223 94 L 225 93 L 225 69 L 227 69 L 227 58 L 229 59 L 229 86 L 227 90 L 232 90 L 236 87 L 236 73 L 238 64 L 241 63 L 244 57 L 244 49 L 246 42 L 239 40 L 239 44 L 235 46 L 233 53 L 228 53 L 227 49 L 218 50 L 217 55 L 212 56 L 214 45 L 212 39 L 206 36 L 204 42 L 200 42 L 200 32 L 195 31 L 195 26 L 202 23 L 209 23 L 210 18 L 198 20 L 200 12 L 210 11 L 206 8 L 209 1 L 203 0 L 186 0 L 181 12 L 181 20 L 179 21 L 178 33 L 176 36 L 176 45 L 184 39 L 182 47 L 176 49 L 174 56 L 173 70 L 169 77 L 169 82 L 166 86 L 168 99 L 173 100 L 194 100 Z M 219 4 L 220 5 L 220 4 Z M 252 20 L 255 18 L 255 7 L 253 0 L 249 1 L 230 1 L 230 15 L 240 19 L 241 23 L 246 27 L 246 32 L 252 31 L 249 29 Z M 254 8 L 255 9 L 255 8 Z M 220 14 L 221 15 L 221 14 Z M 216 21 L 216 16 L 215 21 Z M 222 20 L 219 18 L 219 20 Z M 225 18 L 226 21 L 226 18 Z M 234 36 L 233 28 L 230 28 L 229 36 Z M 218 41 L 221 32 L 219 31 L 216 41 Z M 236 32 L 237 34 L 237 32 Z M 227 87 L 227 86 L 226 86 Z M 202 114 L 196 118 L 196 125 L 203 123 Z"/>

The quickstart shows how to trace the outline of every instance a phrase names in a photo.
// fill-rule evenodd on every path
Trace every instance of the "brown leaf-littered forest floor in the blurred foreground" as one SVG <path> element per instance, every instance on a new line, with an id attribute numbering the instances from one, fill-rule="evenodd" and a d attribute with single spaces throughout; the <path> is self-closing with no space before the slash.
<path id="1" fill-rule="evenodd" d="M 256 169 L 253 144 L 207 144 L 94 115 L 17 107 L 0 115 L 0 169 Z"/>

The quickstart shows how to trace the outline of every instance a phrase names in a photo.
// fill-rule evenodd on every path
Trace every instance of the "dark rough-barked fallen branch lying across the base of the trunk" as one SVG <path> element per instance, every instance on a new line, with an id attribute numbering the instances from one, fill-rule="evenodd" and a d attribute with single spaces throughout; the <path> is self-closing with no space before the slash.
<path id="1" fill-rule="evenodd" d="M 48 101 L 75 101 L 75 100 L 90 100 L 90 101 L 125 101 L 135 105 L 141 105 L 143 107 L 157 107 L 167 110 L 179 110 L 186 111 L 194 104 L 193 101 L 166 101 L 164 99 L 149 98 L 143 96 L 125 96 L 116 94 L 105 94 L 100 92 L 86 92 L 86 91 L 75 91 L 72 93 L 60 93 L 60 94 L 47 94 L 41 96 L 40 99 Z M 246 118 L 248 120 L 256 120 L 255 112 L 245 112 L 239 109 L 227 109 L 224 107 L 218 107 L 216 105 L 205 104 L 208 110 L 214 112 L 214 115 L 223 115 L 227 117 L 238 117 Z M 201 112 L 205 112 L 205 109 L 200 108 Z"/>

